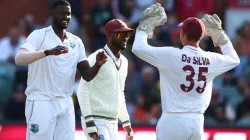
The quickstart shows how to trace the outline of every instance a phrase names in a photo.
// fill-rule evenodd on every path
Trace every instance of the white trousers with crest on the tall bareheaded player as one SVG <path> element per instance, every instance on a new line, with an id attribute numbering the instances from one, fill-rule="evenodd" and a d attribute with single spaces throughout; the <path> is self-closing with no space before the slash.
<path id="1" fill-rule="evenodd" d="M 26 140 L 74 140 L 75 111 L 71 97 L 26 100 Z"/>

